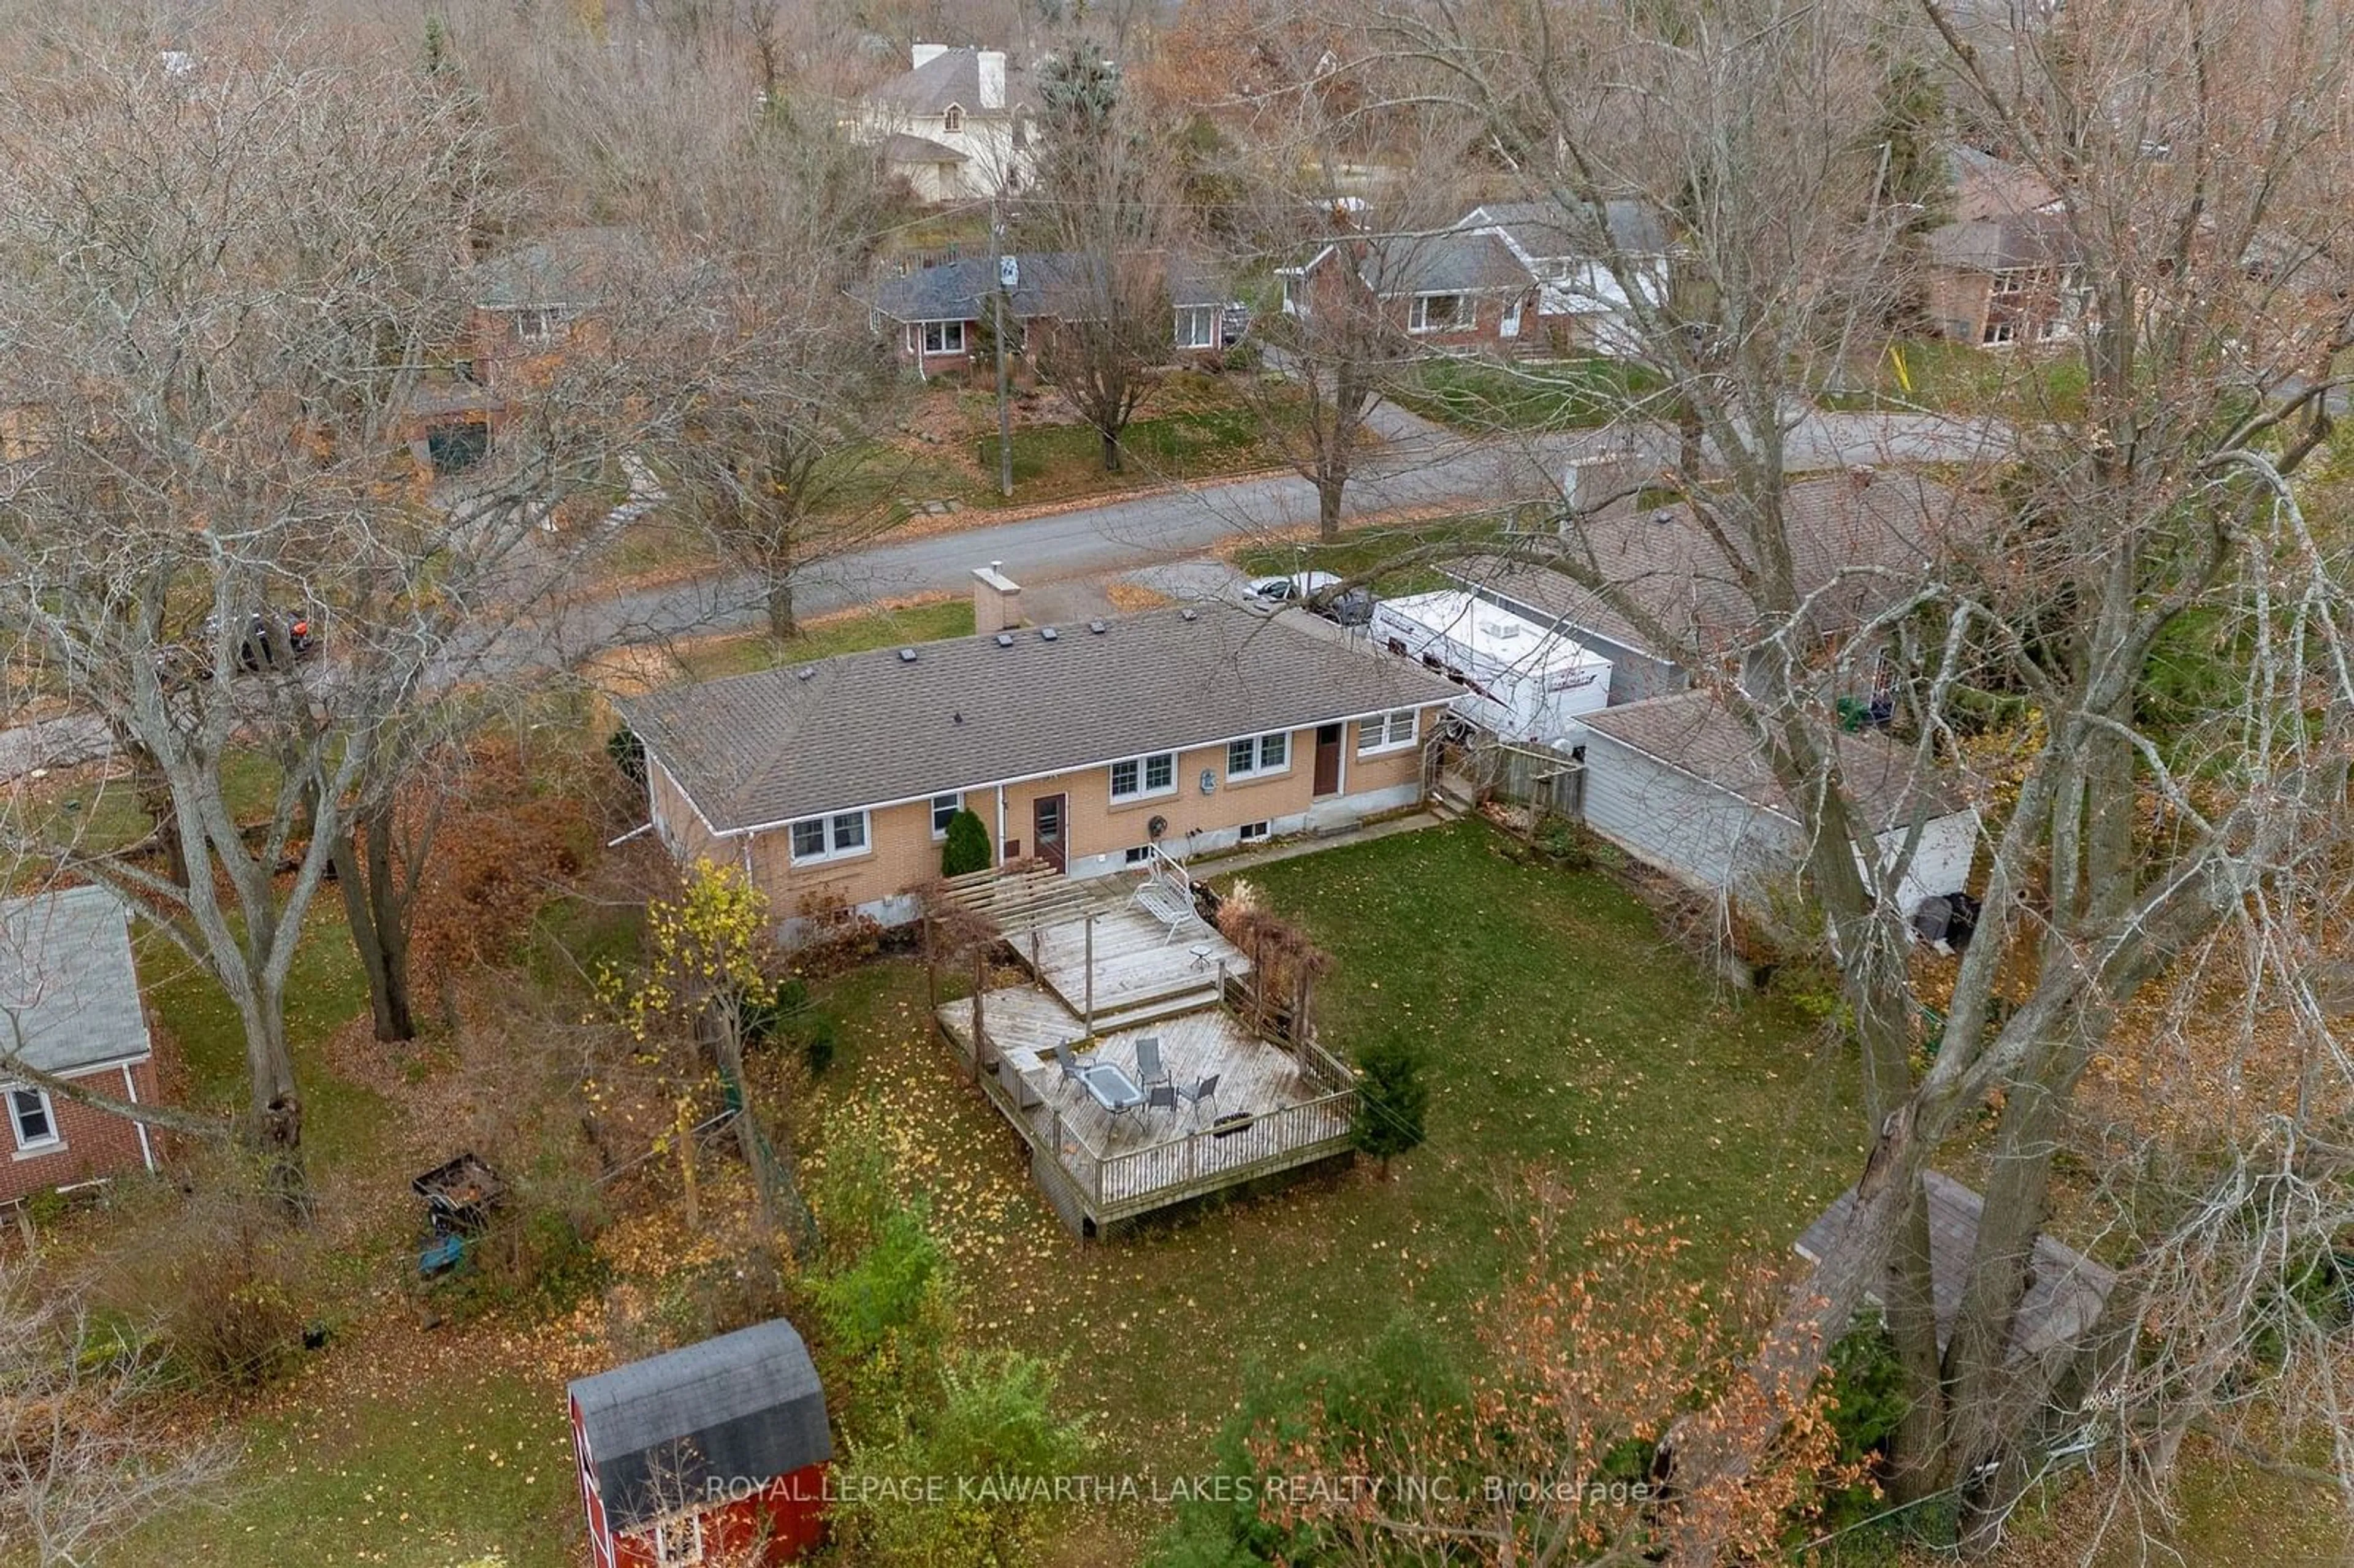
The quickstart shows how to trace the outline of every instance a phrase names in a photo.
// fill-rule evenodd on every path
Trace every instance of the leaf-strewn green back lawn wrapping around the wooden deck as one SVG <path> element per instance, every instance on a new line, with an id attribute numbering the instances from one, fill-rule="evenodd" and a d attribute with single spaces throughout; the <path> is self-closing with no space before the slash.
<path id="1" fill-rule="evenodd" d="M 1401 1311 L 1467 1335 L 1514 1267 L 1511 1208 L 1540 1163 L 1577 1191 L 1580 1229 L 1676 1220 L 1695 1269 L 1780 1255 L 1857 1168 L 1853 1071 L 1777 1003 L 1721 998 L 1615 883 L 1507 848 L 1464 822 L 1248 873 L 1337 958 L 1328 1043 L 1403 1038 L 1424 1057 L 1429 1142 L 1389 1180 L 1358 1165 L 1083 1248 L 935 1041 L 904 961 L 826 986 L 843 1057 L 805 1114 L 892 1149 L 930 1196 L 972 1335 L 1066 1356 L 1111 1471 L 1205 1471 L 1248 1382 L 1363 1347 Z M 1130 1556 L 1161 1523 L 1139 1507 L 1130 1544 L 1095 1556 Z"/>

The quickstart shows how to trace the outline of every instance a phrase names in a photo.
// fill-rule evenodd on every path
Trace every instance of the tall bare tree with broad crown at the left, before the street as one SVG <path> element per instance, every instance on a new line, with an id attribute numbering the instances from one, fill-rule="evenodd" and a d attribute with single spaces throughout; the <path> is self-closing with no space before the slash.
<path id="1" fill-rule="evenodd" d="M 245 1135 L 292 1198 L 287 977 L 386 720 L 565 572 L 544 525 L 636 405 L 584 337 L 497 410 L 490 461 L 428 490 L 405 447 L 457 381 L 492 151 L 426 73 L 233 21 L 174 61 L 99 42 L 0 89 L 0 405 L 26 431 L 0 622 L 35 690 L 134 742 L 186 876 L 38 800 L 7 833 L 224 989 Z"/>

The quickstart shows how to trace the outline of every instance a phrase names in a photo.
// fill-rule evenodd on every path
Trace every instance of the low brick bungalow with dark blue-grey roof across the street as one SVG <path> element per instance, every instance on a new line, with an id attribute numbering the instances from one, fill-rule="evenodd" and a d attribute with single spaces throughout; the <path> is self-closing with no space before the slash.
<path id="1" fill-rule="evenodd" d="M 1170 363 L 1201 363 L 1226 348 L 1229 292 L 1224 278 L 1182 254 L 1132 254 L 1104 275 L 1097 257 L 1078 252 L 1024 252 L 991 261 L 956 257 L 939 266 L 909 266 L 876 280 L 862 301 L 876 332 L 890 332 L 899 360 L 920 374 L 965 367 L 979 351 L 982 323 L 1000 287 L 1000 266 L 1010 264 L 1005 287 L 1008 341 L 1036 353 L 1045 334 L 1062 320 L 1102 318 L 1102 299 L 1139 299 L 1146 292 L 1165 297 L 1170 311 Z"/>

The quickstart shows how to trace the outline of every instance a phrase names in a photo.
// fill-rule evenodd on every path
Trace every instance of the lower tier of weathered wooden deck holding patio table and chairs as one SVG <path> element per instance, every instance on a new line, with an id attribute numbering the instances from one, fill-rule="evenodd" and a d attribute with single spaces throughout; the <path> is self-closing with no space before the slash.
<path id="1" fill-rule="evenodd" d="M 972 1003 L 942 1005 L 939 1022 L 970 1059 Z M 1137 1041 L 1158 1036 L 1172 1081 L 1219 1076 L 1201 1107 L 1106 1111 L 1048 1055 L 1085 1038 L 1085 1026 L 1033 986 L 984 994 L 982 1036 L 982 1059 L 993 1067 L 982 1088 L 1031 1147 L 1048 1198 L 1083 1234 L 1349 1147 L 1349 1074 L 1314 1045 L 1292 1052 L 1255 1038 L 1217 1005 L 1104 1034 L 1092 1050 L 1142 1081 Z"/>

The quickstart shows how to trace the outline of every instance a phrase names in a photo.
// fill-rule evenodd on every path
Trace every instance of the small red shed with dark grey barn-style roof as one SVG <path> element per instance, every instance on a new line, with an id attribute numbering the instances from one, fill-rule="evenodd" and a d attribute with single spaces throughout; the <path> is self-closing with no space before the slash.
<path id="1" fill-rule="evenodd" d="M 784 1563 L 826 1533 L 826 1391 L 784 1318 L 581 1377 L 572 1453 L 598 1568 Z"/>

